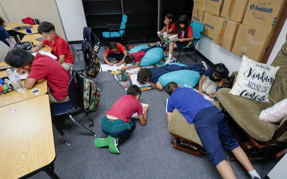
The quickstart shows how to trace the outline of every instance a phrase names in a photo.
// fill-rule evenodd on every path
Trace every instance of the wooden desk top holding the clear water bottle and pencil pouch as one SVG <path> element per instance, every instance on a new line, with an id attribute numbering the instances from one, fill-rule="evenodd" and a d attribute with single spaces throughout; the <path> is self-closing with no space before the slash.
<path id="1" fill-rule="evenodd" d="M 7 71 L 0 72 L 0 77 L 4 76 L 7 76 Z M 24 80 L 22 80 L 22 83 L 24 83 Z M 31 91 L 33 91 L 34 88 L 40 89 L 39 94 L 37 95 L 31 94 Z M 42 83 L 38 84 L 36 83 L 32 89 L 25 89 L 24 92 L 17 92 L 16 90 L 13 90 L 6 94 L 0 95 L 1 98 L 0 107 L 16 103 L 19 101 L 23 101 L 26 99 L 35 98 L 37 96 L 46 94 L 47 92 L 48 92 L 47 81 L 44 80 Z"/>

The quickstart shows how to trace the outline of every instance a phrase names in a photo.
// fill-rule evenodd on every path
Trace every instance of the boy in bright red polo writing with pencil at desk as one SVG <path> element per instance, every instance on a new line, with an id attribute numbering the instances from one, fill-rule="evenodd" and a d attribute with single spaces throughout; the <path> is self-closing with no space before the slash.
<path id="1" fill-rule="evenodd" d="M 39 42 L 31 51 L 36 52 L 45 45 L 49 45 L 53 50 L 53 54 L 57 57 L 58 62 L 65 70 L 70 70 L 70 68 L 74 66 L 73 55 L 68 43 L 56 34 L 54 25 L 44 21 L 39 25 L 38 32 L 45 40 Z"/>

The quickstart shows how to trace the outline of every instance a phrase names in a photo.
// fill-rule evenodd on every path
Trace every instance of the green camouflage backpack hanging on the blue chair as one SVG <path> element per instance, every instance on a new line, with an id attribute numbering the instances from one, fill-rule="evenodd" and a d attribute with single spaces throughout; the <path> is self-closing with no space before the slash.
<path id="1" fill-rule="evenodd" d="M 74 69 L 72 68 L 70 69 L 70 76 L 73 70 Z M 76 70 L 74 70 L 74 72 L 76 73 L 76 87 L 79 95 L 79 104 L 77 106 L 84 110 L 86 114 L 95 112 L 99 106 L 99 102 L 101 99 L 100 88 L 98 88 L 97 85 L 87 76 L 77 73 Z M 91 126 L 93 126 L 93 124 L 89 127 Z"/>

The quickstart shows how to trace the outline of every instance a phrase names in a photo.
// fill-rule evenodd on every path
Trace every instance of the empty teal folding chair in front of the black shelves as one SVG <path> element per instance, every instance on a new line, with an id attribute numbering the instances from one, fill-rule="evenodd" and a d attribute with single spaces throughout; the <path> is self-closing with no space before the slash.
<path id="1" fill-rule="evenodd" d="M 121 38 L 123 40 L 123 43 L 126 46 L 124 34 L 125 34 L 125 30 L 126 30 L 127 20 L 128 20 L 128 16 L 126 16 L 126 14 L 124 14 L 121 24 L 108 24 L 107 32 L 102 32 L 104 38 L 109 38 L 108 45 L 110 43 L 110 38 Z M 118 28 L 118 27 L 120 27 L 120 28 Z M 105 48 L 106 48 L 106 43 L 105 43 Z M 126 49 L 128 49 L 127 46 L 126 46 Z"/>

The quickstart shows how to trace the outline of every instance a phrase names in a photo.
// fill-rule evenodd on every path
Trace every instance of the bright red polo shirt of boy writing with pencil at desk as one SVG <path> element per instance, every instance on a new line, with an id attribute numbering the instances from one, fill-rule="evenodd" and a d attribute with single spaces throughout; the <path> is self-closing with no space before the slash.
<path id="1" fill-rule="evenodd" d="M 42 43 L 49 45 L 52 48 L 53 54 L 57 57 L 57 60 L 59 60 L 60 55 L 65 55 L 65 62 L 74 64 L 74 58 L 68 43 L 58 36 L 58 34 L 56 34 L 54 43 L 48 40 L 43 40 Z"/>

